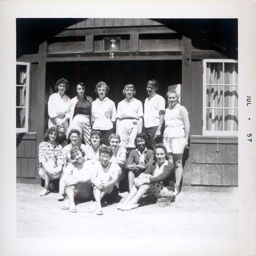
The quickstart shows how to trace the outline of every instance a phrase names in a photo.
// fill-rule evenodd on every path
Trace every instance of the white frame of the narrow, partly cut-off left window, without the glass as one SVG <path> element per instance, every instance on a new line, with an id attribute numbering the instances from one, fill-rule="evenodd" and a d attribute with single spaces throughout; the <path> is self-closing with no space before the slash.
<path id="1" fill-rule="evenodd" d="M 23 127 L 23 128 L 16 127 L 16 133 L 27 133 L 29 131 L 30 62 L 16 61 L 16 69 L 17 69 L 18 65 L 27 66 L 27 74 L 26 74 L 26 85 L 25 86 L 16 84 L 16 88 L 17 87 L 26 87 L 26 105 L 25 105 L 25 107 L 16 105 L 16 108 L 15 108 L 15 111 L 17 111 L 17 109 L 25 108 L 25 127 Z M 16 97 L 17 97 L 17 95 L 16 95 Z M 17 119 L 17 117 L 16 117 L 16 119 Z M 16 120 L 16 126 L 17 126 L 17 120 Z"/>

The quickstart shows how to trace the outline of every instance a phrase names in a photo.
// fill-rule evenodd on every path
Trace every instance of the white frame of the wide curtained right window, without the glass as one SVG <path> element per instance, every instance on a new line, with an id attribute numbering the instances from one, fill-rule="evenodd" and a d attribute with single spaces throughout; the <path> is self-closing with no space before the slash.
<path id="1" fill-rule="evenodd" d="M 238 63 L 238 60 L 235 59 L 203 59 L 203 131 L 202 134 L 203 136 L 238 136 L 238 131 L 207 131 L 206 130 L 206 110 L 207 110 L 207 63 L 213 63 L 213 62 L 219 62 L 219 63 Z M 224 67 L 224 66 L 223 66 Z M 223 73 L 224 74 L 224 73 Z M 223 83 L 220 84 L 224 87 L 225 83 L 223 80 Z M 237 92 L 238 92 L 238 88 L 239 88 L 239 82 L 238 84 L 236 84 L 235 86 L 237 86 Z M 224 100 L 224 98 L 223 98 Z M 222 109 L 225 109 L 225 107 L 223 106 Z M 239 108 L 237 108 L 239 110 Z M 224 125 L 225 121 L 223 120 L 223 125 Z M 239 130 L 239 129 L 238 129 Z"/>

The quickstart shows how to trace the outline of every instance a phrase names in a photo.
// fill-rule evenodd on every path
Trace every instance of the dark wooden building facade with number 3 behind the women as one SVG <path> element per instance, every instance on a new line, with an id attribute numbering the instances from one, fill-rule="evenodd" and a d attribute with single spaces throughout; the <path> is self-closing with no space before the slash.
<path id="1" fill-rule="evenodd" d="M 17 19 L 17 177 L 38 178 L 38 145 L 48 125 L 55 82 L 109 84 L 123 99 L 133 83 L 144 103 L 146 81 L 159 94 L 181 84 L 190 118 L 183 184 L 238 185 L 238 26 L 236 19 Z"/>

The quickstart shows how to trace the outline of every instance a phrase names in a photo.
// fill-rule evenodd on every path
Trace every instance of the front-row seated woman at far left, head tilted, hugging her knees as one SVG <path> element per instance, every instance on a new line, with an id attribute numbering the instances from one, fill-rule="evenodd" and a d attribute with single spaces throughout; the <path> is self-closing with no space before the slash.
<path id="1" fill-rule="evenodd" d="M 75 197 L 80 200 L 91 200 L 93 187 L 90 183 L 92 167 L 84 161 L 84 152 L 79 147 L 73 147 L 70 151 L 74 161 L 68 164 L 63 181 L 65 182 L 65 194 L 68 199 L 61 209 L 69 209 L 76 212 Z"/>

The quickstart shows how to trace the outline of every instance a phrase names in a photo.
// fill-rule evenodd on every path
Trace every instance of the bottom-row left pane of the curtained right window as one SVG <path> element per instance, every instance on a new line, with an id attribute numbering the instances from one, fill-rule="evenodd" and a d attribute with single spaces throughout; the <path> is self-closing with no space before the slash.
<path id="1" fill-rule="evenodd" d="M 223 131 L 223 110 L 207 109 L 206 110 L 206 130 Z"/>

